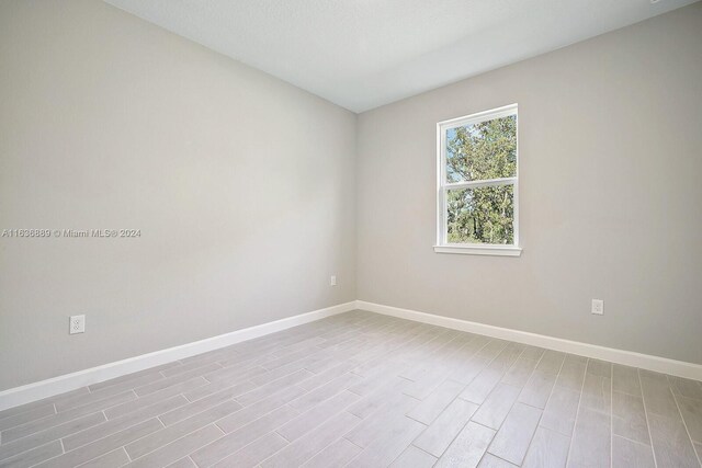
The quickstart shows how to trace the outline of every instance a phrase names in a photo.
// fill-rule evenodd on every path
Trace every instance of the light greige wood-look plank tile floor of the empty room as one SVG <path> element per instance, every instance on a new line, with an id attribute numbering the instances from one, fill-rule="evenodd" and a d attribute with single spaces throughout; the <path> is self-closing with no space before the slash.
<path id="1" fill-rule="evenodd" d="M 0 431 L 1 467 L 700 467 L 702 384 L 353 311 L 2 411 Z"/>

